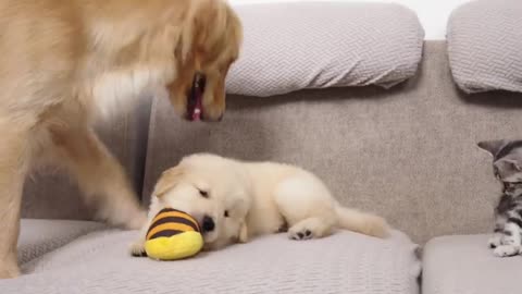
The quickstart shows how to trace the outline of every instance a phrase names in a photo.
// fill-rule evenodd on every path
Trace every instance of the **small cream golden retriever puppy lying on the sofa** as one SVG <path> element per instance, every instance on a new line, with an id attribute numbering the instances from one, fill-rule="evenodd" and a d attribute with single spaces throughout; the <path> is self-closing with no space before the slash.
<path id="1" fill-rule="evenodd" d="M 145 254 L 150 221 L 165 207 L 198 220 L 206 249 L 283 231 L 293 240 L 327 236 L 335 229 L 376 237 L 388 234 L 384 219 L 340 206 L 324 183 L 308 171 L 210 154 L 188 156 L 163 172 L 152 193 L 149 223 L 130 247 L 133 255 Z"/>

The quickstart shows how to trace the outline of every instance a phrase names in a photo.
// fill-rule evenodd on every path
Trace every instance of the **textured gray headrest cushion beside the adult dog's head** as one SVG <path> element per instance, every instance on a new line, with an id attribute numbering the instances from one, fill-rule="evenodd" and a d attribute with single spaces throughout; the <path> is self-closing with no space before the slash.
<path id="1" fill-rule="evenodd" d="M 411 77 L 422 54 L 419 20 L 398 4 L 268 3 L 236 11 L 245 40 L 227 78 L 231 94 L 389 87 Z"/>

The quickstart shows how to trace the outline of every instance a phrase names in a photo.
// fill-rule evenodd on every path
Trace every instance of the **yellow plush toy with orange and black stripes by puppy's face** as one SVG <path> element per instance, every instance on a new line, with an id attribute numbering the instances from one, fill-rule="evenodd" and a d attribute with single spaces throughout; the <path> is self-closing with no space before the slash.
<path id="1" fill-rule="evenodd" d="M 164 208 L 151 223 L 145 241 L 145 252 L 152 259 L 188 258 L 203 247 L 199 223 L 188 213 Z"/>

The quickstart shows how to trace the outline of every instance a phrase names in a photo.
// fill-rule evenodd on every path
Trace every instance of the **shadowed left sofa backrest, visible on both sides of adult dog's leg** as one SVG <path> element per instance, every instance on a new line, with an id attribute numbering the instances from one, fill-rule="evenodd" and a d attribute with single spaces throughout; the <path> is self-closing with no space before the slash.
<path id="1" fill-rule="evenodd" d="M 141 192 L 142 185 L 150 103 L 151 98 L 144 97 L 133 109 L 100 122 L 96 127 L 107 147 L 126 169 L 136 192 Z M 26 181 L 22 216 L 90 220 L 92 211 L 83 204 L 75 179 L 58 169 L 45 169 Z"/>

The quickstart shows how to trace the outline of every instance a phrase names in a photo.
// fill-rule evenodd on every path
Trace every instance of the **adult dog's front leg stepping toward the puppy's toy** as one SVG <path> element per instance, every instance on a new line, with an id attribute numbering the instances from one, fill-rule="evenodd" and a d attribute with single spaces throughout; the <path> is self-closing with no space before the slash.
<path id="1" fill-rule="evenodd" d="M 51 133 L 87 203 L 97 206 L 97 217 L 113 225 L 141 228 L 146 213 L 139 207 L 123 168 L 96 134 L 89 128 L 53 130 Z"/>

